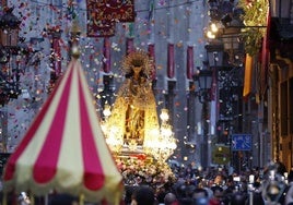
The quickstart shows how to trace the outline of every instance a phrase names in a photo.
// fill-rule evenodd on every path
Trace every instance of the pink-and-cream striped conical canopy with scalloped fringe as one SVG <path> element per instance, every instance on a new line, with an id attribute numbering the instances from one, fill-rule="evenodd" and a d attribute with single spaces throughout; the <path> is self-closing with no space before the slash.
<path id="1" fill-rule="evenodd" d="M 50 191 L 116 204 L 122 178 L 106 145 L 93 97 L 78 59 L 73 59 L 9 158 L 4 191 Z"/>

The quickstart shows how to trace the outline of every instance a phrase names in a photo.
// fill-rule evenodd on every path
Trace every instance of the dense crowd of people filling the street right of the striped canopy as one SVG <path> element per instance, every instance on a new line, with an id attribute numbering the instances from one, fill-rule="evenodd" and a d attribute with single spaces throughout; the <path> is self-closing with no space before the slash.
<path id="1" fill-rule="evenodd" d="M 293 204 L 293 170 L 281 162 L 263 169 L 228 173 L 224 167 L 206 170 L 173 168 L 177 181 L 164 186 L 126 186 L 126 205 L 261 205 Z"/>

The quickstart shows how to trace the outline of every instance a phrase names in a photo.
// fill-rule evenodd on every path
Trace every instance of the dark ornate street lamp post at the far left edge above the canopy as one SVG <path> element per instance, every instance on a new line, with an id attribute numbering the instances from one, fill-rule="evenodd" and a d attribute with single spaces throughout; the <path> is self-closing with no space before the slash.
<path id="1" fill-rule="evenodd" d="M 23 62 L 21 56 L 27 53 L 25 39 L 21 38 L 21 41 L 19 41 L 21 21 L 12 12 L 13 8 L 4 8 L 4 13 L 0 16 L 0 105 L 3 107 L 1 108 L 1 143 L 3 153 L 7 153 L 8 144 L 8 112 L 4 105 L 11 98 L 17 98 L 21 94 L 19 85 L 20 64 Z"/>

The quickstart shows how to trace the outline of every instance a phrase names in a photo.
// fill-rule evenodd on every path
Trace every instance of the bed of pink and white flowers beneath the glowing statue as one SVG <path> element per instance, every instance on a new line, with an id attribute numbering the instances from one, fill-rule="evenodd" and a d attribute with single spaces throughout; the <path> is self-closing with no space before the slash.
<path id="1" fill-rule="evenodd" d="M 169 166 L 144 154 L 116 157 L 116 165 L 127 185 L 163 186 L 175 182 Z"/>

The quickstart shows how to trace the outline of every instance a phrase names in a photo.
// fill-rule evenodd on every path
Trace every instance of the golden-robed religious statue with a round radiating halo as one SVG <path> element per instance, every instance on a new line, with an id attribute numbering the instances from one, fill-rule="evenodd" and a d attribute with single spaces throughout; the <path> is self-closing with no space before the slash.
<path id="1" fill-rule="evenodd" d="M 124 145 L 134 150 L 143 147 L 152 129 L 159 129 L 151 82 L 153 62 L 146 52 L 137 50 L 124 58 L 121 70 L 125 81 L 117 93 L 109 124 L 116 129 L 116 137 L 121 137 Z"/>

